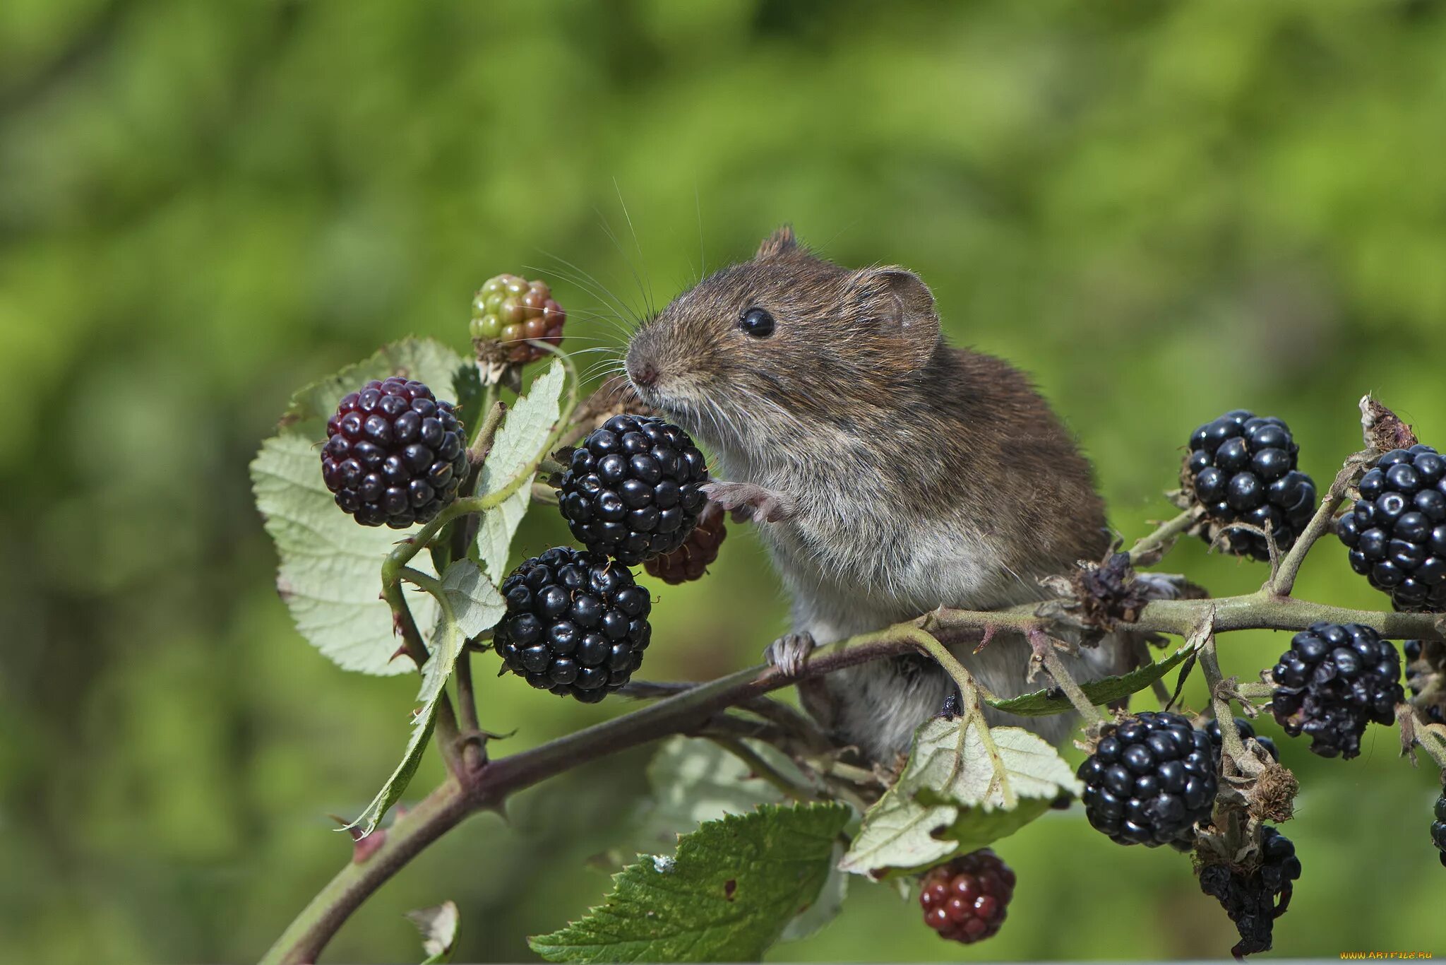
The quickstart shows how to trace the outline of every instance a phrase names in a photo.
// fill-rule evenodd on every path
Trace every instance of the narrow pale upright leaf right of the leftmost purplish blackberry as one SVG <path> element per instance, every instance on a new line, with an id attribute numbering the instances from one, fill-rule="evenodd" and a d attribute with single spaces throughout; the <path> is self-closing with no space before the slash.
<path id="1" fill-rule="evenodd" d="M 547 372 L 532 381 L 528 394 L 508 412 L 492 443 L 492 451 L 487 453 L 487 462 L 482 464 L 479 495 L 486 496 L 506 488 L 538 454 L 561 414 L 564 382 L 562 363 L 554 359 Z M 477 527 L 477 553 L 483 569 L 495 583 L 500 583 L 508 574 L 512 537 L 531 501 L 532 486 L 523 483 L 502 505 L 487 512 Z"/>

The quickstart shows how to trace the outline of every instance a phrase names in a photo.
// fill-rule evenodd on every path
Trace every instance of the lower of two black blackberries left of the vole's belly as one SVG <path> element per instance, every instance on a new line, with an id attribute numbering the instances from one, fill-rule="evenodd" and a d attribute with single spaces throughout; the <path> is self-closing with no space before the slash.
<path id="1" fill-rule="evenodd" d="M 539 690 L 597 703 L 642 666 L 652 600 L 626 567 L 557 547 L 513 570 L 502 596 L 493 647 Z"/>

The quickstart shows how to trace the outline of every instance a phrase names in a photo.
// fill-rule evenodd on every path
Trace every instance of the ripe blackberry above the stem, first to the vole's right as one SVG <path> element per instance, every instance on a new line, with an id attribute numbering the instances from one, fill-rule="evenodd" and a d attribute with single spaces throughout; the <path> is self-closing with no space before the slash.
<path id="1" fill-rule="evenodd" d="M 1212 524 L 1206 541 L 1223 531 L 1229 553 L 1270 560 L 1265 537 L 1229 528 L 1245 522 L 1268 531 L 1281 551 L 1290 548 L 1316 509 L 1316 483 L 1296 469 L 1299 451 L 1284 421 L 1246 409 L 1194 430 L 1183 482 Z"/>

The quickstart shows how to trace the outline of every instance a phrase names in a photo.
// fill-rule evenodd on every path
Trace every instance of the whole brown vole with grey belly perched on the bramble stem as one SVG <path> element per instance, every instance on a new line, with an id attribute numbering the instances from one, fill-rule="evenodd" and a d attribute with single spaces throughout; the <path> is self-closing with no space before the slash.
<path id="1" fill-rule="evenodd" d="M 1053 596 L 1043 577 L 1111 544 L 1090 463 L 1030 379 L 946 343 L 914 272 L 850 269 L 785 226 L 753 258 L 677 295 L 629 339 L 638 396 L 713 456 L 709 498 L 752 521 L 791 598 L 765 655 L 797 674 L 814 647 L 933 609 L 989 611 Z M 1037 690 L 1019 634 L 950 642 L 998 696 Z M 1079 680 L 1121 673 L 1106 637 L 1067 658 Z M 800 683 L 840 744 L 907 754 L 953 680 L 933 660 L 885 658 Z M 1069 716 L 988 710 L 1058 744 Z"/>

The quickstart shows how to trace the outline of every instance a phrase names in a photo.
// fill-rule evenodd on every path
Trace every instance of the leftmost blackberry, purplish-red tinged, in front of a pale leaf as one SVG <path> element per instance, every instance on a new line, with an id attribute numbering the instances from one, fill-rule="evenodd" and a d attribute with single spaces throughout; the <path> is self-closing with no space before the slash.
<path id="1" fill-rule="evenodd" d="M 393 376 L 348 392 L 327 420 L 321 479 L 366 527 L 428 522 L 457 496 L 467 446 L 451 402 Z"/>

